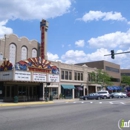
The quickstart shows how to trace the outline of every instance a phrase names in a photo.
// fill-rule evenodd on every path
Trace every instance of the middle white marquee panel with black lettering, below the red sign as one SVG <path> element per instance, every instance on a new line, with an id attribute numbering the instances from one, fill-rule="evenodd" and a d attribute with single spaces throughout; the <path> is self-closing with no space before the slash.
<path id="1" fill-rule="evenodd" d="M 46 74 L 33 73 L 33 81 L 46 82 Z"/>

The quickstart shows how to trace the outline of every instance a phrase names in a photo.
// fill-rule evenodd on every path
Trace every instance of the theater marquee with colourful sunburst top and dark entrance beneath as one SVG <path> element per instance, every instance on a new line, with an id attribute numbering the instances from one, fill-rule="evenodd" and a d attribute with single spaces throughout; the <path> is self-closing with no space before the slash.
<path id="1" fill-rule="evenodd" d="M 53 82 L 59 82 L 59 68 L 41 57 L 21 60 L 14 67 L 9 60 L 0 65 L 0 95 L 5 102 L 15 96 L 19 101 L 45 100 L 49 96 L 45 88 Z"/>

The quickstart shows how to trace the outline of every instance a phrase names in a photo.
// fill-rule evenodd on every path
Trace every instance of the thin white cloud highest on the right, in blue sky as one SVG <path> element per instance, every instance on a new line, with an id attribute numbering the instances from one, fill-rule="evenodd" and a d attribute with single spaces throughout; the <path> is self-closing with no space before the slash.
<path id="1" fill-rule="evenodd" d="M 101 12 L 101 11 L 89 11 L 82 18 L 79 18 L 84 22 L 93 21 L 93 20 L 116 20 L 116 21 L 127 21 L 120 12 Z M 129 22 L 128 22 L 129 23 Z"/>

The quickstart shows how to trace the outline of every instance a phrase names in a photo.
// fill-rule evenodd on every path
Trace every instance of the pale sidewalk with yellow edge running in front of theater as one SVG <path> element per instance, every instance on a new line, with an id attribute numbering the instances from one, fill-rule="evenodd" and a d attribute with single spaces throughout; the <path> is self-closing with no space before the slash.
<path id="1" fill-rule="evenodd" d="M 18 103 L 0 102 L 0 107 L 53 104 L 53 103 L 62 103 L 62 102 L 73 102 L 77 100 L 79 99 L 56 99 L 53 101 L 34 101 L 34 102 L 18 102 Z"/>

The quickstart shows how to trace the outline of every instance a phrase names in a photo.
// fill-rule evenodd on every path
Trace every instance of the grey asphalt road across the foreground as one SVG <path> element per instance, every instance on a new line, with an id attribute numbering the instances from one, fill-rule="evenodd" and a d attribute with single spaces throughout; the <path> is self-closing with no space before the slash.
<path id="1" fill-rule="evenodd" d="M 129 111 L 130 99 L 2 107 L 0 130 L 119 130 Z"/>

